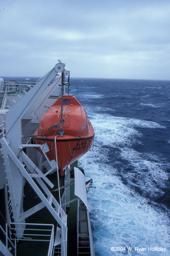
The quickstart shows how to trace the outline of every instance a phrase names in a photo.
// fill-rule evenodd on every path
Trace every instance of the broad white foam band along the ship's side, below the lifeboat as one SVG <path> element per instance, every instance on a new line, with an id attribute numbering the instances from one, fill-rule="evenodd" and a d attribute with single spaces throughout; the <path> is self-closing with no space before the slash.
<path id="1" fill-rule="evenodd" d="M 96 192 L 88 194 L 96 254 L 113 255 L 110 250 L 112 246 L 161 246 L 168 250 L 170 220 L 166 213 L 125 186 L 116 175 L 118 170 L 111 164 L 103 163 L 103 155 L 105 157 L 100 148 L 95 147 L 81 160 L 86 170 L 86 180 L 93 178 L 96 186 Z M 148 252 L 147 255 L 153 253 Z M 158 256 L 159 253 L 155 252 L 154 255 Z M 169 253 L 166 251 L 164 256 L 169 256 Z"/>

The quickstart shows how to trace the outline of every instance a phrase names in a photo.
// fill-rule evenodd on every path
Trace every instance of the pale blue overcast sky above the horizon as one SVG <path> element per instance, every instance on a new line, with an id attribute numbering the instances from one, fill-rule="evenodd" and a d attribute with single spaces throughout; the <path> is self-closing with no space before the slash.
<path id="1" fill-rule="evenodd" d="M 0 0 L 0 77 L 170 80 L 170 0 Z"/>

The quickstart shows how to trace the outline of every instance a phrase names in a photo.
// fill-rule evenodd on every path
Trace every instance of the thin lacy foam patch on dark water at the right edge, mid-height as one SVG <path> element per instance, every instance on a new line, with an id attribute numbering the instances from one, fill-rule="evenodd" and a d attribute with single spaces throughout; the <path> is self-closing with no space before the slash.
<path id="1" fill-rule="evenodd" d="M 132 148 L 121 148 L 121 158 L 127 160 L 126 168 L 131 172 L 122 172 L 127 183 L 138 187 L 143 196 L 152 199 L 164 196 L 169 175 L 166 172 L 170 164 L 161 155 L 139 153 Z"/>

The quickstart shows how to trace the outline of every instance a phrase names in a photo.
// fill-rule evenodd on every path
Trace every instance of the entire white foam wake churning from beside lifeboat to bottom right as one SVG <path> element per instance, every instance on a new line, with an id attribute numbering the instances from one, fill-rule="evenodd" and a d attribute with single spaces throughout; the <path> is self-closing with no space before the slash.
<path id="1" fill-rule="evenodd" d="M 157 161 L 154 154 L 144 156 L 131 148 L 142 134 L 136 127 L 165 128 L 156 122 L 138 119 L 114 117 L 109 114 L 88 113 L 95 130 L 95 148 L 81 158 L 85 169 L 86 180 L 93 178 L 97 187 L 95 194 L 88 195 L 91 224 L 94 236 L 95 252 L 98 256 L 136 255 L 135 252 L 118 252 L 113 254 L 111 247 L 167 247 L 163 254 L 169 256 L 170 220 L 165 212 L 150 204 L 149 200 L 136 193 L 130 186 L 122 183 L 117 175 L 114 161 L 109 163 L 108 154 L 111 148 L 119 147 L 120 157 L 128 160 L 134 169 L 147 169 L 151 179 L 164 186 L 167 174 L 161 160 Z M 110 147 L 109 147 L 110 146 Z M 121 149 L 121 151 L 120 151 Z M 113 155 L 114 157 L 114 155 Z M 162 159 L 163 160 L 163 159 Z M 127 174 L 129 175 L 129 174 Z M 130 176 L 126 177 L 130 179 Z M 140 177 L 142 189 L 150 186 L 145 184 L 145 176 Z M 156 186 L 151 184 L 152 189 Z M 149 190 L 148 190 L 149 192 Z M 153 256 L 153 252 L 140 253 Z M 154 256 L 160 256 L 154 252 Z"/>

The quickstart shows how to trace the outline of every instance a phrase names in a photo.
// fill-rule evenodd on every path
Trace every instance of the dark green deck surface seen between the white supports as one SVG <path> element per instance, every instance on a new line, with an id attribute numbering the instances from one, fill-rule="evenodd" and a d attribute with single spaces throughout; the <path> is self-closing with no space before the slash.
<path id="1" fill-rule="evenodd" d="M 48 179 L 54 183 L 54 188 L 57 189 L 57 174 L 48 175 Z M 64 178 L 61 177 L 61 185 L 63 186 Z M 30 209 L 34 205 L 41 202 L 37 197 L 34 190 L 26 182 L 24 188 L 24 211 Z M 58 192 L 52 192 L 54 197 L 58 200 Z M 70 200 L 76 198 L 74 195 L 74 184 L 70 187 Z M 70 208 L 66 209 L 68 215 L 68 256 L 77 255 L 77 201 L 70 204 Z M 41 223 L 41 224 L 54 224 L 56 232 L 57 222 L 48 211 L 46 207 L 26 218 L 27 223 Z M 19 241 L 17 244 L 17 256 L 47 256 L 48 255 L 48 242 L 35 242 L 35 241 Z"/>

